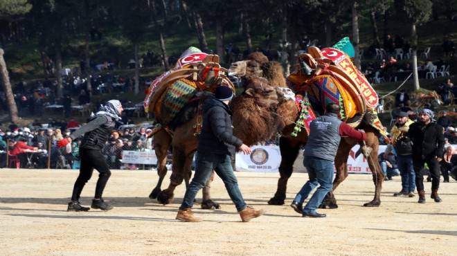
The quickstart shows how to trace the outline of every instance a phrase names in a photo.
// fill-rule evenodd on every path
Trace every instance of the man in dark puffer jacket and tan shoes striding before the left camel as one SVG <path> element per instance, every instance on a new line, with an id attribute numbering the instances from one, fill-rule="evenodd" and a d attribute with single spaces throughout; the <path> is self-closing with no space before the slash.
<path id="1" fill-rule="evenodd" d="M 244 202 L 238 181 L 233 173 L 231 156 L 235 148 L 244 154 L 251 154 L 251 149 L 242 143 L 240 138 L 233 136 L 231 111 L 228 102 L 233 98 L 233 92 L 228 86 L 218 86 L 215 99 L 208 98 L 204 104 L 204 116 L 201 134 L 197 146 L 195 175 L 190 182 L 176 219 L 186 222 L 199 222 L 191 208 L 195 196 L 215 170 L 224 181 L 228 195 L 235 203 L 243 222 L 260 217 L 264 210 L 254 210 Z"/>

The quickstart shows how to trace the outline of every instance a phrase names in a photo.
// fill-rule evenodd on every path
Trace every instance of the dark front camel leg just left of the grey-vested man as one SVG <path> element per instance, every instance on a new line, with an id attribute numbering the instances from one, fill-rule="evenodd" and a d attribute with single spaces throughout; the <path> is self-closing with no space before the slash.
<path id="1" fill-rule="evenodd" d="M 294 172 L 294 162 L 300 150 L 300 143 L 298 140 L 289 140 L 288 138 L 281 137 L 279 139 L 279 149 L 281 153 L 281 163 L 279 165 L 278 188 L 274 197 L 269 201 L 269 205 L 283 205 L 286 198 L 287 181 L 289 181 L 292 172 Z"/>

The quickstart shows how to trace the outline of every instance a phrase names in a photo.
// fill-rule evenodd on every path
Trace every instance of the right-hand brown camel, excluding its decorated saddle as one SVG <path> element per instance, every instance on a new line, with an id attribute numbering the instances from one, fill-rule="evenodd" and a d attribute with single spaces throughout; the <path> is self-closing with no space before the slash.
<path id="1" fill-rule="evenodd" d="M 301 58 L 301 61 L 305 62 L 303 59 L 306 58 Z M 296 65 L 297 70 L 295 75 L 301 77 L 303 81 L 308 81 L 313 77 L 313 74 L 308 74 L 304 69 L 312 70 L 312 68 L 314 68 L 315 71 L 316 69 L 319 70 L 319 67 L 321 67 L 317 63 L 314 63 L 315 60 L 312 58 L 307 61 L 308 65 Z M 325 61 L 328 62 L 328 60 Z M 282 70 L 279 70 L 278 68 L 268 69 L 268 67 L 271 66 L 278 65 L 274 62 L 269 62 L 265 56 L 262 56 L 261 53 L 256 53 L 254 55 L 250 55 L 247 60 L 233 63 L 228 70 L 228 75 L 237 77 L 260 75 L 270 80 L 271 85 L 287 87 L 284 82 L 278 82 L 278 77 L 283 77 Z M 312 68 L 310 68 L 310 66 L 312 66 Z M 313 105 L 315 112 L 317 111 L 318 113 L 323 114 L 322 107 L 316 106 L 316 104 L 308 104 L 307 98 L 304 98 L 303 102 L 305 103 L 302 105 L 303 107 Z M 271 136 L 274 136 L 276 132 L 280 134 L 279 147 L 282 157 L 279 167 L 280 179 L 278 180 L 276 193 L 274 194 L 274 197 L 268 201 L 268 203 L 270 205 L 283 205 L 286 199 L 287 181 L 292 175 L 294 161 L 298 156 L 301 145 L 306 143 L 308 138 L 306 129 L 301 129 L 305 127 L 303 127 L 303 125 L 296 125 L 297 120 L 300 120 L 300 116 L 303 116 L 303 111 L 301 112 L 296 103 L 290 100 L 279 103 L 276 109 L 262 109 L 260 106 L 254 106 L 249 103 L 247 104 L 246 100 L 244 100 L 244 93 L 233 100 L 231 107 L 233 109 L 234 116 L 234 135 L 241 138 L 245 144 L 254 145 L 259 141 L 265 141 Z M 256 111 L 253 111 L 253 109 Z M 264 113 L 263 115 L 260 115 L 261 111 L 267 111 L 269 114 Z M 374 199 L 368 203 L 364 203 L 364 206 L 368 207 L 377 207 L 381 204 L 380 194 L 382 190 L 382 182 L 384 181 L 384 174 L 377 161 L 380 133 L 378 129 L 375 129 L 375 127 L 371 125 L 374 118 L 373 115 L 376 115 L 373 111 L 364 111 L 363 113 L 360 113 L 359 116 L 355 117 L 358 118 L 355 129 L 363 129 L 367 134 L 367 138 L 364 143 L 360 144 L 364 155 L 368 158 L 368 165 L 373 173 L 373 183 L 375 183 Z M 377 118 L 377 116 L 375 117 Z M 303 118 L 301 118 L 301 121 L 303 124 Z M 346 122 L 348 121 L 350 120 L 347 120 Z M 275 129 L 276 131 L 272 131 Z M 296 136 L 291 135 L 294 134 L 294 131 Z M 334 191 L 348 176 L 348 156 L 350 149 L 355 145 L 356 142 L 348 138 L 341 140 L 337 156 L 334 161 L 337 173 L 334 178 L 333 188 L 332 191 L 325 197 L 321 208 L 338 208 Z M 371 152 L 369 152 L 369 149 L 371 149 Z"/>

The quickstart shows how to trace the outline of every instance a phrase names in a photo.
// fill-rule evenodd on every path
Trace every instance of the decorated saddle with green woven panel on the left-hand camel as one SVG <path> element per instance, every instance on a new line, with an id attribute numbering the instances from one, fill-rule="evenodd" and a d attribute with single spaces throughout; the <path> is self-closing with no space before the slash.
<path id="1" fill-rule="evenodd" d="M 147 89 L 145 112 L 154 113 L 155 122 L 168 127 L 183 107 L 197 102 L 199 95 L 213 93 L 217 86 L 229 86 L 235 93 L 226 69 L 219 65 L 219 56 L 190 47 L 174 68 L 157 77 Z"/>

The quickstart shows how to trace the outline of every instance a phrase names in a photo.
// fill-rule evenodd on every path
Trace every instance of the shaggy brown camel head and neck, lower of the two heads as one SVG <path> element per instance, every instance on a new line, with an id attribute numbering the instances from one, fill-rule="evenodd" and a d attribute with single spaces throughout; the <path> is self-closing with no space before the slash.
<path id="1" fill-rule="evenodd" d="M 282 131 L 289 119 L 295 120 L 296 116 L 282 116 L 285 110 L 297 111 L 289 89 L 271 86 L 262 77 L 245 78 L 246 89 L 231 102 L 233 134 L 246 145 L 256 145 Z"/>

